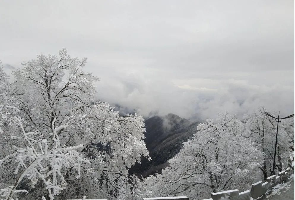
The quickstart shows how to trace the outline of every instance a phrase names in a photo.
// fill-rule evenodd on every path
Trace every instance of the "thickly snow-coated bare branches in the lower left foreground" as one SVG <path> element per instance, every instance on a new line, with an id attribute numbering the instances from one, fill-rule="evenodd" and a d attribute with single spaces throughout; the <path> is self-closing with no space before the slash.
<path id="1" fill-rule="evenodd" d="M 1 167 L 9 165 L 9 159 L 14 157 L 17 163 L 14 168 L 15 183 L 12 186 L 0 189 L 0 195 L 5 199 L 12 199 L 14 196 L 19 196 L 18 193 L 27 190 L 21 189 L 19 186 L 23 183 L 24 178 L 30 180 L 28 183 L 31 188 L 34 188 L 38 180 L 46 186 L 50 199 L 58 195 L 66 188 L 66 180 L 62 174 L 63 169 L 71 167 L 77 170 L 76 178 L 80 177 L 80 166 L 84 163 L 89 163 L 87 159 L 83 159 L 76 149 L 82 148 L 83 145 L 63 147 L 59 143 L 57 131 L 64 128 L 64 125 L 53 128 L 55 135 L 54 145 L 50 148 L 47 140 L 43 139 L 42 134 L 38 132 L 25 132 L 21 119 L 18 117 L 2 118 L 2 120 L 10 120 L 11 125 L 19 126 L 20 136 L 10 136 L 10 139 L 21 140 L 26 143 L 26 148 L 12 146 L 15 152 L 7 155 L 0 160 Z M 68 124 L 67 124 L 68 125 Z M 33 136 L 33 137 L 32 137 Z M 23 145 L 21 145 L 23 146 Z M 8 161 L 8 164 L 7 162 Z M 11 170 L 11 169 L 10 169 Z M 2 199 L 2 198 L 1 198 Z"/>

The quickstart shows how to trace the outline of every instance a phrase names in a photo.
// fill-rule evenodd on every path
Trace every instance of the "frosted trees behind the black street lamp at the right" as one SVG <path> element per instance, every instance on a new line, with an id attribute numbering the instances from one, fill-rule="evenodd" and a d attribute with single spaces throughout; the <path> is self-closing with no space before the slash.
<path id="1" fill-rule="evenodd" d="M 277 124 L 274 118 L 264 114 L 265 111 L 272 116 L 277 116 L 277 113 L 260 107 L 252 114 L 246 115 L 246 127 L 248 136 L 253 142 L 260 144 L 259 148 L 264 153 L 264 160 L 260 170 L 263 173 L 263 177 L 267 178 L 271 175 L 273 167 Z M 286 168 L 290 154 L 290 146 L 294 146 L 294 128 L 291 127 L 290 124 L 294 125 L 294 119 L 284 119 L 279 124 L 276 153 L 277 172 Z"/>

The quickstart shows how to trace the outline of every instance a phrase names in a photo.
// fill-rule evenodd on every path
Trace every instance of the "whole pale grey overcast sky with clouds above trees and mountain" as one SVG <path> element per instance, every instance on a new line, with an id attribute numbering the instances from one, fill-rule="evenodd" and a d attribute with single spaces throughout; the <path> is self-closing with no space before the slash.
<path id="1" fill-rule="evenodd" d="M 63 47 L 145 117 L 294 113 L 294 0 L 0 1 L 7 72 Z"/>

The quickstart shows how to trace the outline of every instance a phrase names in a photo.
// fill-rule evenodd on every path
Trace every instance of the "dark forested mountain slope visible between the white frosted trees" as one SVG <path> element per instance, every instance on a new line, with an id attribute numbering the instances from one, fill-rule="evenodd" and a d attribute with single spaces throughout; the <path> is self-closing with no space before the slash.
<path id="1" fill-rule="evenodd" d="M 148 176 L 160 172 L 168 166 L 167 161 L 180 151 L 182 143 L 193 136 L 198 123 L 175 114 L 154 116 L 145 120 L 145 143 L 152 160 L 148 161 L 142 157 L 142 163 L 132 167 L 129 174 Z"/>

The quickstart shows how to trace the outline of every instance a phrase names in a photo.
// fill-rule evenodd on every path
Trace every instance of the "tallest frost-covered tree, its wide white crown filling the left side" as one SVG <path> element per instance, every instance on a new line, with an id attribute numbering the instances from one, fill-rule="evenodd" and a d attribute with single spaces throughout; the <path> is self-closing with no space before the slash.
<path id="1" fill-rule="evenodd" d="M 4 159 L 0 188 L 25 189 L 29 199 L 43 195 L 51 199 L 54 195 L 130 199 L 146 194 L 141 181 L 128 175 L 128 168 L 140 162 L 142 154 L 149 157 L 143 141 L 143 117 L 120 116 L 109 104 L 96 101 L 94 83 L 99 79 L 82 70 L 85 64 L 86 59 L 71 58 L 62 49 L 59 57 L 39 55 L 13 72 L 15 82 L 9 93 L 2 95 L 5 101 L 0 105 L 1 115 L 15 109 L 14 118 L 0 123 L 0 159 Z M 45 150 L 48 155 L 43 159 Z M 13 156 L 7 159 L 10 154 Z M 63 155 L 71 155 L 72 161 Z M 33 167 L 36 173 L 28 167 L 33 157 L 43 159 L 42 166 Z M 16 166 L 15 162 L 21 164 Z M 28 171 L 31 176 L 18 183 L 14 172 Z M 54 179 L 55 175 L 58 178 Z M 50 184 L 56 186 L 51 193 Z"/>

